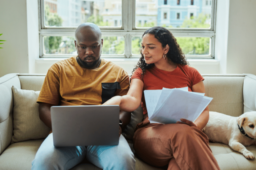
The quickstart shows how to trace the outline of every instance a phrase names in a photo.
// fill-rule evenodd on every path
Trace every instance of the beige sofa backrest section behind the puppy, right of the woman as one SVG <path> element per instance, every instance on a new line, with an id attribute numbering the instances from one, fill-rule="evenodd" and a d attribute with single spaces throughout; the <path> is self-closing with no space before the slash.
<path id="1" fill-rule="evenodd" d="M 213 97 L 209 110 L 230 116 L 244 113 L 243 83 L 245 74 L 202 74 L 205 95 Z"/>

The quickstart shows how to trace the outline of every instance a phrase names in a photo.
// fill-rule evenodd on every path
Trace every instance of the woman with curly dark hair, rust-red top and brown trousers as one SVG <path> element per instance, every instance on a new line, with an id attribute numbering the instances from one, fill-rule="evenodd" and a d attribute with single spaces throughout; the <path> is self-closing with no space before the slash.
<path id="1" fill-rule="evenodd" d="M 141 104 L 144 120 L 137 125 L 133 137 L 136 154 L 152 166 L 168 165 L 168 170 L 219 169 L 208 138 L 201 131 L 209 120 L 208 107 L 195 122 L 181 119 L 176 124 L 150 123 L 143 96 L 144 90 L 163 87 L 188 87 L 189 91 L 204 93 L 203 77 L 187 65 L 184 53 L 166 28 L 153 27 L 144 32 L 141 48 L 127 95 L 104 103 L 118 104 L 127 112 Z"/>

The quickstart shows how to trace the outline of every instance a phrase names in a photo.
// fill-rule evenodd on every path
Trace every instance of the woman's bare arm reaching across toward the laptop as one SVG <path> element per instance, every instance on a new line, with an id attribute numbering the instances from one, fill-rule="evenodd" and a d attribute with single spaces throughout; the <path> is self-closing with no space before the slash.
<path id="1" fill-rule="evenodd" d="M 106 101 L 103 105 L 117 104 L 120 106 L 120 110 L 132 112 L 141 104 L 143 87 L 144 83 L 140 79 L 132 79 L 127 95 L 114 96 L 110 100 Z"/>

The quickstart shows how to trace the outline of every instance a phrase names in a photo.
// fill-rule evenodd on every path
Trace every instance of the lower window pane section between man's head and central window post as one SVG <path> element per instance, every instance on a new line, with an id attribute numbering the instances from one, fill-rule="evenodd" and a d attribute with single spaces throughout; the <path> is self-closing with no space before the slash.
<path id="1" fill-rule="evenodd" d="M 124 54 L 123 36 L 104 36 L 102 38 L 104 39 L 102 54 Z"/>

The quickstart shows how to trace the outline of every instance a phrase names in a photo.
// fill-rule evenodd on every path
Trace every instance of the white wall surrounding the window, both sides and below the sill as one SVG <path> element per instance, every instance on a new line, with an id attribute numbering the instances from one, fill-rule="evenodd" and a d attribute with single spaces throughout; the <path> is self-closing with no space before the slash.
<path id="1" fill-rule="evenodd" d="M 189 60 L 201 74 L 256 74 L 256 1 L 217 0 L 214 60 Z M 46 73 L 59 59 L 39 59 L 36 0 L 1 0 L 0 77 Z M 4 17 L 3 17 L 4 16 Z M 131 74 L 137 60 L 113 60 Z"/>

